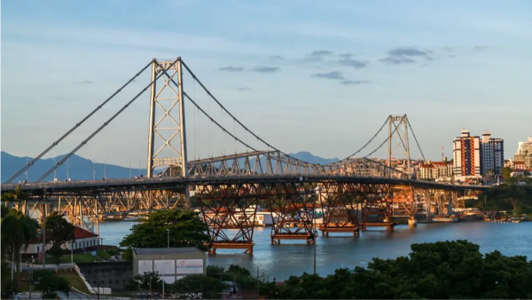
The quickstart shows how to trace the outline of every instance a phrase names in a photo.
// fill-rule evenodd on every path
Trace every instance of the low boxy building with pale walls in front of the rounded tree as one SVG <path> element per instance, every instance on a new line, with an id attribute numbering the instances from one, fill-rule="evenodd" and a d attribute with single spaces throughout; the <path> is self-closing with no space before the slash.
<path id="1" fill-rule="evenodd" d="M 133 249 L 133 277 L 145 272 L 159 272 L 167 283 L 186 275 L 206 274 L 207 255 L 191 248 L 137 248 Z"/>

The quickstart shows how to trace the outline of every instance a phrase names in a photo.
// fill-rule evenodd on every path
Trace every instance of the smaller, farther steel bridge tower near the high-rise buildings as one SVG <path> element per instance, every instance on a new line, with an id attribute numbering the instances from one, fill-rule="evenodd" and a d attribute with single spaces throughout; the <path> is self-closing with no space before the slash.
<path id="1" fill-rule="evenodd" d="M 387 165 L 390 168 L 402 170 L 408 174 L 409 178 L 412 178 L 410 145 L 408 140 L 409 126 L 410 124 L 406 114 L 390 114 L 388 116 Z M 394 158 L 397 161 L 392 162 Z"/>

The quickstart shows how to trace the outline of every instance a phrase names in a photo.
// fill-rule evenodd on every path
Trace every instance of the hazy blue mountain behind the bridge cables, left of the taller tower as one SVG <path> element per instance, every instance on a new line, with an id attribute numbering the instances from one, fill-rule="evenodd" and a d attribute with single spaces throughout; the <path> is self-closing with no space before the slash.
<path id="1" fill-rule="evenodd" d="M 56 162 L 59 162 L 66 155 L 59 155 L 55 157 Z M 15 172 L 24 168 L 27 162 L 33 160 L 32 157 L 20 157 L 8 154 L 2 151 L 0 157 L 0 163 L 2 165 L 1 182 L 11 178 Z M 35 164 L 28 169 L 27 178 L 29 182 L 34 182 L 38 178 L 41 178 L 43 174 L 53 167 L 53 158 L 41 159 L 35 162 Z M 116 166 L 113 164 L 107 164 L 97 162 L 94 164 L 94 170 L 96 170 L 96 178 L 104 178 L 104 169 L 106 169 L 107 178 L 129 178 L 129 168 Z M 146 170 L 141 169 L 140 174 L 146 175 Z M 73 155 L 68 160 L 68 177 L 71 180 L 90 180 L 93 176 L 93 164 L 91 160 L 82 158 L 78 155 Z M 138 176 L 138 169 L 131 169 L 131 177 Z M 58 180 L 66 180 L 66 162 L 56 170 L 56 178 Z M 20 174 L 18 178 L 15 178 L 12 183 L 26 180 L 26 172 Z M 44 181 L 52 181 L 53 172 L 44 179 Z"/>

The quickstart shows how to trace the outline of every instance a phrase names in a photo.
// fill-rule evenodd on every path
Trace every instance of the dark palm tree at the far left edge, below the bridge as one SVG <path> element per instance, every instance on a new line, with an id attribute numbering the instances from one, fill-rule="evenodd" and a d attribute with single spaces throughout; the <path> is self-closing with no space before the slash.
<path id="1" fill-rule="evenodd" d="M 6 246 L 11 254 L 11 259 L 17 261 L 16 280 L 13 287 L 17 288 L 20 272 L 20 250 L 27 249 L 29 241 L 36 239 L 39 223 L 24 216 L 20 210 L 12 210 L 2 217 L 2 246 Z"/>

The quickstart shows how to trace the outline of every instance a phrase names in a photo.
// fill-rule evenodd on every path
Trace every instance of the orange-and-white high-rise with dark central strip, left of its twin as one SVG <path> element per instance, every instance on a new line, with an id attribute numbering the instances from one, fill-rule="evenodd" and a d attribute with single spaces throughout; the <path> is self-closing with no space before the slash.
<path id="1" fill-rule="evenodd" d="M 481 138 L 472 137 L 468 130 L 462 130 L 453 142 L 453 171 L 455 180 L 481 177 Z"/>

